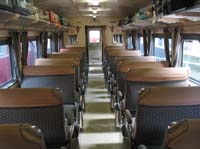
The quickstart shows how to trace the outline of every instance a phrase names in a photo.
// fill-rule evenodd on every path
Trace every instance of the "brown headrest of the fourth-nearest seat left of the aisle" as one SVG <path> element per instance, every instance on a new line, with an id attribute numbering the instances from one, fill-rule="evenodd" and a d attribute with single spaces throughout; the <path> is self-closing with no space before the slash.
<path id="1" fill-rule="evenodd" d="M 38 58 L 35 60 L 35 65 L 68 65 L 79 66 L 80 61 L 76 59 L 59 59 L 59 58 Z"/>

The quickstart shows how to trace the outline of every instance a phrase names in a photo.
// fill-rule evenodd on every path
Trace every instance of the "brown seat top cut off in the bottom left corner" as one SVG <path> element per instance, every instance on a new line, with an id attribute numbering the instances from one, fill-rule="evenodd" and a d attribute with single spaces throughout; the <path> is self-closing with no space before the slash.
<path id="1" fill-rule="evenodd" d="M 3 149 L 46 149 L 41 130 L 29 124 L 0 125 L 0 147 Z"/>

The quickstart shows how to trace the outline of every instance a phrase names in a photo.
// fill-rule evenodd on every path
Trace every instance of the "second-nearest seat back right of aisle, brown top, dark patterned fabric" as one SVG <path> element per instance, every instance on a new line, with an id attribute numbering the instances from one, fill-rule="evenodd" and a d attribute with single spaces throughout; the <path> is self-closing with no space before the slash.
<path id="1" fill-rule="evenodd" d="M 173 121 L 200 118 L 200 87 L 155 87 L 138 98 L 134 140 L 136 145 L 161 146 Z"/>

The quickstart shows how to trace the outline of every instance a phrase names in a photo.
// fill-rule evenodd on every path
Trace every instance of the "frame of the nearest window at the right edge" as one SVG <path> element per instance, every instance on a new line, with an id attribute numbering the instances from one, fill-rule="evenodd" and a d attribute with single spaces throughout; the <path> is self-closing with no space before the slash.
<path id="1" fill-rule="evenodd" d="M 182 37 L 182 49 L 181 49 L 181 59 L 180 59 L 180 64 L 181 64 L 181 67 L 183 67 L 183 55 L 184 55 L 184 41 L 185 40 L 199 40 L 200 42 L 200 35 L 197 35 L 197 34 L 181 34 L 181 37 Z M 189 80 L 194 83 L 195 85 L 200 85 L 200 80 L 197 80 L 195 78 L 192 78 L 191 76 L 189 76 Z"/>

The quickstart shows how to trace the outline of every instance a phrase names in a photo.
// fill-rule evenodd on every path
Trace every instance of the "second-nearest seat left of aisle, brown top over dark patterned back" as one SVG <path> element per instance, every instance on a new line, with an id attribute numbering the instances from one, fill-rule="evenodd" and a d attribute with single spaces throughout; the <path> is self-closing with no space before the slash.
<path id="1" fill-rule="evenodd" d="M 22 144 L 31 143 L 26 143 L 20 137 L 17 138 L 20 135 L 18 133 L 25 138 L 30 138 L 31 135 L 36 136 L 35 139 L 30 138 L 35 140 L 32 144 L 42 144 L 40 134 L 42 132 L 47 148 L 62 146 L 77 148 L 74 144 L 78 144 L 78 126 L 73 124 L 69 127 L 67 125 L 63 104 L 62 92 L 57 89 L 2 89 L 0 90 L 0 124 L 22 124 L 19 126 L 20 128 L 18 126 L 8 127 L 20 131 L 14 135 L 16 135 L 15 141 L 18 140 Z M 29 125 L 24 124 L 37 126 L 41 132 L 38 132 L 38 129 L 33 131 Z M 10 145 L 14 144 L 10 142 Z"/>

